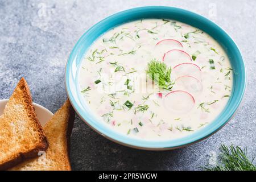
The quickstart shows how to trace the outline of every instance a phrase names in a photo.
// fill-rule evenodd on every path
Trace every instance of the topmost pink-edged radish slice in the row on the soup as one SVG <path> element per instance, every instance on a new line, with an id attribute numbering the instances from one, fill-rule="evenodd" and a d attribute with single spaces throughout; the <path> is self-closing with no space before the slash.
<path id="1" fill-rule="evenodd" d="M 160 42 L 156 43 L 156 51 L 159 52 L 162 56 L 164 53 L 171 49 L 182 48 L 182 44 L 175 39 L 163 39 Z"/>

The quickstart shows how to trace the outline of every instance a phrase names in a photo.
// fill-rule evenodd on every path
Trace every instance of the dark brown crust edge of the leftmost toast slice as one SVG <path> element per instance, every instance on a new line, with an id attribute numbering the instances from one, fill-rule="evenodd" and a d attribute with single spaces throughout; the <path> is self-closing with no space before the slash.
<path id="1" fill-rule="evenodd" d="M 20 79 L 15 90 L 16 89 L 21 89 L 23 92 L 23 94 L 21 96 L 23 97 L 23 100 L 25 103 L 25 108 L 28 111 L 27 115 L 31 119 L 31 121 L 34 121 L 34 123 L 39 131 L 40 138 L 32 150 L 27 151 L 27 152 L 20 152 L 16 156 L 11 156 L 10 160 L 1 163 L 0 170 L 6 170 L 11 167 L 14 167 L 17 164 L 22 163 L 26 159 L 35 158 L 36 156 L 38 156 L 39 151 L 46 151 L 46 149 L 48 147 L 46 134 L 44 133 L 43 128 L 38 121 L 38 118 L 36 117 L 35 108 L 32 105 L 32 97 L 30 94 L 30 89 L 28 88 L 27 82 L 23 77 Z M 11 97 L 15 97 L 15 90 Z"/>

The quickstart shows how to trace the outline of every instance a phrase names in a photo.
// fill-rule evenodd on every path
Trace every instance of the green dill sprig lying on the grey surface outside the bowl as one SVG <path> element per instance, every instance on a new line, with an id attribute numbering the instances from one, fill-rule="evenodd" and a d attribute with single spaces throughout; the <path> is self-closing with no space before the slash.
<path id="1" fill-rule="evenodd" d="M 221 144 L 219 162 L 216 166 L 207 165 L 203 169 L 207 171 L 256 171 L 253 159 L 246 156 L 246 149 L 240 147 L 225 146 Z"/>

